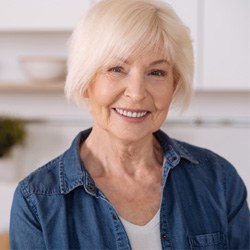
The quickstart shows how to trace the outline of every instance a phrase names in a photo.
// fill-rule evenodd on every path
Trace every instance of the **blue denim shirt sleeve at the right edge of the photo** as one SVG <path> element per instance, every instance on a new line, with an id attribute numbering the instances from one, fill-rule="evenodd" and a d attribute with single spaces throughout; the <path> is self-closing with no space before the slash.
<path id="1" fill-rule="evenodd" d="M 250 249 L 250 214 L 246 187 L 233 167 L 227 168 L 226 196 L 229 249 Z"/>

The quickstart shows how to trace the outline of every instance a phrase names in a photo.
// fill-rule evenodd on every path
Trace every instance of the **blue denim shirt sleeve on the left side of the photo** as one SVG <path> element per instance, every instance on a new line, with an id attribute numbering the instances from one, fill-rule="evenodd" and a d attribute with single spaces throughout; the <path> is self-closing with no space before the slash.
<path id="1" fill-rule="evenodd" d="M 10 218 L 11 249 L 45 249 L 42 229 L 31 196 L 24 196 L 19 184 L 13 198 Z"/>

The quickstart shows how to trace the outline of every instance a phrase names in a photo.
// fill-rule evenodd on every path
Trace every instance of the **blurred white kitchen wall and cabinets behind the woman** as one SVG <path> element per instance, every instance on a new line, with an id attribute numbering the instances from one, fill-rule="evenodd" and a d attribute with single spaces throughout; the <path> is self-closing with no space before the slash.
<path id="1" fill-rule="evenodd" d="M 171 110 L 163 129 L 227 158 L 250 191 L 250 1 L 167 2 L 191 29 L 196 76 L 190 108 L 183 114 Z M 70 33 L 93 3 L 0 0 L 0 115 L 24 119 L 28 132 L 10 159 L 0 159 L 0 233 L 8 232 L 18 181 L 91 126 L 87 108 L 65 100 L 63 81 L 32 81 L 21 58 L 66 58 Z"/>

